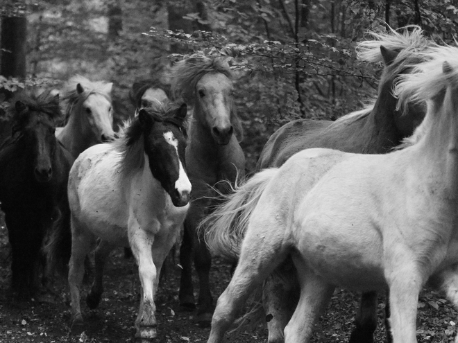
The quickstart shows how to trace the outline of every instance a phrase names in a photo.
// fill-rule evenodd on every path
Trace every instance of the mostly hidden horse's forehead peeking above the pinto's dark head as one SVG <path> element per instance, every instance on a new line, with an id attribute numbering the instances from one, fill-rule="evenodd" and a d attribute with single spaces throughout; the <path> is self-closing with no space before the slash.
<path id="1" fill-rule="evenodd" d="M 160 80 L 141 80 L 132 85 L 129 98 L 137 108 L 166 104 L 170 98 L 170 85 Z"/>

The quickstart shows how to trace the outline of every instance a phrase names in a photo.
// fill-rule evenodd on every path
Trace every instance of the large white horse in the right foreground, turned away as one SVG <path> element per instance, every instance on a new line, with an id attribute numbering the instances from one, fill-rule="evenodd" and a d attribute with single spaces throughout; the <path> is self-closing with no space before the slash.
<path id="1" fill-rule="evenodd" d="M 309 342 L 337 286 L 388 288 L 395 343 L 416 342 L 418 294 L 427 281 L 458 305 L 458 49 L 425 53 L 432 60 L 396 87 L 400 103 L 427 100 L 425 120 L 403 150 L 303 150 L 255 175 L 212 214 L 210 249 L 240 249 L 240 259 L 219 297 L 209 343 L 221 342 L 251 291 L 289 254 L 300 299 L 286 343 Z M 251 202 L 239 211 L 242 197 Z M 241 247 L 240 232 L 227 231 L 233 220 L 246 225 Z"/>

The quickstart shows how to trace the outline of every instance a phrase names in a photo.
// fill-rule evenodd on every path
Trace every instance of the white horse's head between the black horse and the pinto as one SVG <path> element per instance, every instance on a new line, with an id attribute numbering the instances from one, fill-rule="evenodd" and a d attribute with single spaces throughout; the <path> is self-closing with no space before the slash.
<path id="1" fill-rule="evenodd" d="M 103 91 L 88 91 L 78 83 L 76 91 L 80 96 L 85 96 L 85 100 L 81 104 L 81 125 L 83 132 L 91 133 L 91 139 L 95 143 L 111 141 L 114 138 L 113 131 L 113 109 L 111 100 L 105 94 L 110 94 L 112 83 L 105 85 Z M 85 94 L 86 93 L 86 94 Z"/>

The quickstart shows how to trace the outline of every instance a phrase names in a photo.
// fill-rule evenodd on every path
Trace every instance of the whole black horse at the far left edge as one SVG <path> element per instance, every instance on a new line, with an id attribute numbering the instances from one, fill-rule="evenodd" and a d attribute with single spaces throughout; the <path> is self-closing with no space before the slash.
<path id="1" fill-rule="evenodd" d="M 69 225 L 67 179 L 74 159 L 56 139 L 59 96 L 26 91 L 8 109 L 11 136 L 0 149 L 0 202 L 12 251 L 12 290 L 33 295 L 42 246 L 53 225 Z"/>

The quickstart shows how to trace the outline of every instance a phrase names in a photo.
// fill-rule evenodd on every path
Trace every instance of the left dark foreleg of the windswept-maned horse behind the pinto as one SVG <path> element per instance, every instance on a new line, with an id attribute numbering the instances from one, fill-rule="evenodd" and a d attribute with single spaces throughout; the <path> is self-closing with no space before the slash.
<path id="1" fill-rule="evenodd" d="M 178 298 L 180 299 L 180 306 L 194 310 L 196 308 L 196 304 L 194 304 L 194 288 L 192 286 L 194 231 L 191 231 L 187 220 L 185 220 L 184 225 L 183 242 L 180 247 L 180 265 L 182 269 Z"/>

